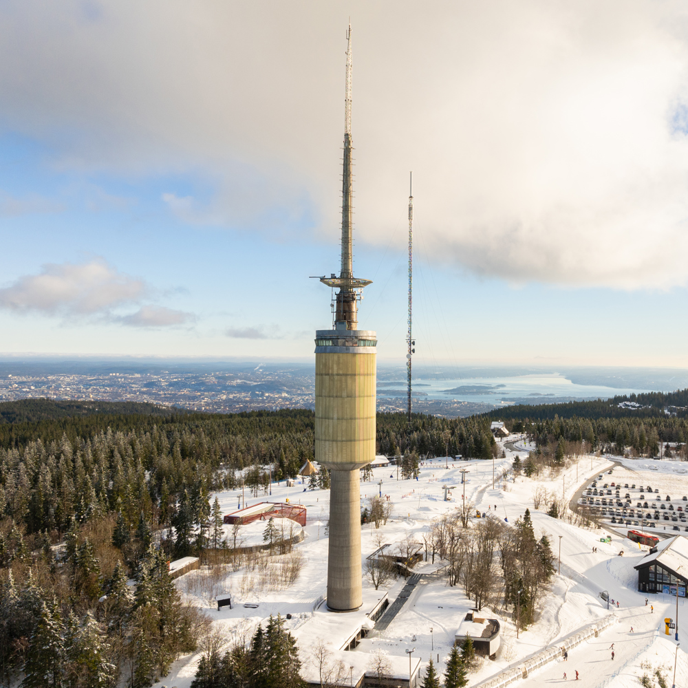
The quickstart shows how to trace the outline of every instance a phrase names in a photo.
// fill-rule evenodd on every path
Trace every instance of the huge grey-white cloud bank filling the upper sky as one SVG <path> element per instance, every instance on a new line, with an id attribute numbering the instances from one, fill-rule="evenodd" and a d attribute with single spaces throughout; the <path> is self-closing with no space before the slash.
<path id="1" fill-rule="evenodd" d="M 301 239 L 310 224 L 336 242 L 351 14 L 356 250 L 387 246 L 413 169 L 436 261 L 513 282 L 688 283 L 685 3 L 89 7 L 0 8 L 1 125 L 56 164 L 195 170 L 212 197 L 164 195 L 185 221 Z"/>

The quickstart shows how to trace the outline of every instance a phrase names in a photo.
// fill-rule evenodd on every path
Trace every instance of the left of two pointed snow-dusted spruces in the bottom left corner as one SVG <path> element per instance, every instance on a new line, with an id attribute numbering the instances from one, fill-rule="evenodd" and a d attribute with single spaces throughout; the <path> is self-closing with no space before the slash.
<path id="1" fill-rule="evenodd" d="M 21 688 L 63 688 L 65 685 L 65 627 L 57 602 L 43 603 L 41 620 L 31 638 Z"/>

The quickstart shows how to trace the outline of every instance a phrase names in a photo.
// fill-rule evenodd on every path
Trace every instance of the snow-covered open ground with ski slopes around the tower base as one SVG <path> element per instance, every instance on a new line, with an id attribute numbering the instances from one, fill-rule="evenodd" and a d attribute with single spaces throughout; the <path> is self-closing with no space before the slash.
<path id="1" fill-rule="evenodd" d="M 381 526 L 379 530 L 372 524 L 363 527 L 364 561 L 367 555 L 378 548 L 380 538 L 392 546 L 396 546 L 409 534 L 421 539 L 433 519 L 460 504 L 464 488 L 466 499 L 475 503 L 477 508 L 491 513 L 496 508 L 499 517 L 508 519 L 510 524 L 513 524 L 528 507 L 533 517 L 536 535 L 542 532 L 548 534 L 555 557 L 559 554 L 561 546 L 561 574 L 555 575 L 553 579 L 537 623 L 530 626 L 526 632 L 521 632 L 518 640 L 513 624 L 508 619 L 502 619 L 504 634 L 497 659 L 484 660 L 480 668 L 470 675 L 470 685 L 487 680 L 544 647 L 556 645 L 566 636 L 609 614 L 606 605 L 599 599 L 599 592 L 602 590 L 608 590 L 612 598 L 619 600 L 619 608 L 614 610 L 618 621 L 600 634 L 599 638 L 592 638 L 591 641 L 572 649 L 568 662 L 559 661 L 546 665 L 519 683 L 558 682 L 563 680 L 564 671 L 568 674 L 568 680 L 572 680 L 575 678 L 575 671 L 578 670 L 580 680 L 590 687 L 606 685 L 608 682 L 614 687 L 630 687 L 638 685 L 638 677 L 643 673 L 652 673 L 650 669 L 643 669 L 643 664 L 645 667 L 671 665 L 671 671 L 667 673 L 667 680 L 671 685 L 676 643 L 671 639 L 673 636 L 663 635 L 661 622 L 665 616 L 676 615 L 676 601 L 669 596 L 649 596 L 654 605 L 654 614 L 650 614 L 649 606 L 645 607 L 645 596 L 636 592 L 636 572 L 633 566 L 640 561 L 647 548 L 639 548 L 637 544 L 618 535 L 612 535 L 611 544 L 604 544 L 600 537 L 606 535 L 605 532 L 585 530 L 564 520 L 552 519 L 544 513 L 546 509 L 543 506 L 540 510 L 535 510 L 533 493 L 541 486 L 550 493 L 556 493 L 557 497 L 566 495 L 566 499 L 570 500 L 581 486 L 590 483 L 592 477 L 599 475 L 603 469 L 608 470 L 612 466 L 612 461 L 621 461 L 623 468 L 616 466 L 614 474 L 609 476 L 610 479 L 618 478 L 622 483 L 651 484 L 659 488 L 664 493 L 663 496 L 668 493 L 673 499 L 673 495 L 688 494 L 688 472 L 684 473 L 687 470 L 684 468 L 686 464 L 585 456 L 556 476 L 541 476 L 539 481 L 519 477 L 515 483 L 509 480 L 505 489 L 504 481 L 501 479 L 502 468 L 510 466 L 514 453 L 507 450 L 506 455 L 506 459 L 494 462 L 494 469 L 492 461 L 456 462 L 444 458 L 432 460 L 421 466 L 420 478 L 417 481 L 396 480 L 394 466 L 374 469 L 372 480 L 361 484 L 362 502 L 365 504 L 367 497 L 381 491 L 383 495 L 389 495 L 394 503 L 394 515 L 387 525 Z M 522 458 L 525 455 L 522 451 Z M 445 465 L 448 468 L 445 468 Z M 465 486 L 461 484 L 460 469 L 469 471 Z M 453 488 L 449 502 L 443 501 L 444 486 Z M 325 524 L 330 492 L 310 491 L 306 488 L 306 484 L 288 488 L 282 482 L 281 485 L 272 486 L 270 497 L 246 499 L 246 506 L 250 506 L 268 499 L 272 502 L 283 502 L 288 497 L 292 504 L 302 504 L 308 509 L 303 542 L 294 546 L 291 555 L 275 557 L 276 561 L 286 561 L 288 557 L 294 556 L 302 557 L 303 568 L 293 585 L 263 585 L 256 572 L 246 572 L 242 568 L 233 571 L 230 566 L 221 573 L 215 572 L 212 577 L 203 571 L 191 572 L 177 581 L 180 590 L 188 594 L 193 603 L 211 616 L 217 628 L 226 631 L 229 640 L 237 635 L 250 637 L 255 625 L 270 614 L 292 614 L 292 619 L 286 622 L 286 627 L 297 637 L 304 664 L 312 662 L 311 646 L 313 638 L 319 634 L 316 629 L 327 628 L 323 641 L 329 643 L 331 654 L 336 657 L 338 647 L 347 639 L 352 629 L 355 630 L 356 625 L 360 625 L 364 616 L 363 610 L 353 614 L 332 614 L 325 610 L 325 605 L 319 605 L 326 592 L 328 542 Z M 239 490 L 217 495 L 224 513 L 237 509 L 237 494 L 240 493 Z M 241 530 L 241 537 L 246 536 L 246 540 L 252 543 L 261 541 L 264 528 L 264 522 L 246 526 L 246 532 L 244 529 Z M 230 528 L 227 532 L 230 533 Z M 593 547 L 597 548 L 596 552 L 592 551 Z M 623 557 L 618 556 L 621 549 L 625 551 Z M 436 568 L 437 566 L 433 567 L 430 563 L 421 563 L 416 570 L 432 572 Z M 204 581 L 203 577 L 212 580 Z M 355 672 L 365 671 L 371 662 L 372 653 L 378 649 L 396 658 L 392 662 L 395 670 L 397 667 L 408 667 L 405 650 L 413 647 L 413 657 L 420 658 L 423 665 L 427 663 L 432 652 L 435 660 L 439 656 L 438 669 L 440 672 L 444 670 L 444 660 L 451 649 L 455 631 L 471 608 L 471 603 L 460 588 L 447 587 L 443 579 L 425 582 L 427 580 L 424 579 L 424 583 L 416 587 L 387 630 L 374 630 L 355 650 L 346 653 L 347 677 L 343 685 L 349 685 L 348 667 L 356 667 L 356 682 Z M 364 577 L 364 607 L 374 603 L 385 592 L 389 599 L 393 600 L 404 584 L 403 579 L 398 579 L 391 581 L 385 590 L 380 588 L 376 592 Z M 281 589 L 275 590 L 276 587 Z M 222 608 L 218 612 L 213 597 L 224 592 L 233 594 L 234 608 Z M 684 600 L 680 599 L 679 621 L 683 602 Z M 257 605 L 257 608 L 245 608 L 245 603 Z M 688 608 L 686 612 L 688 613 Z M 661 633 L 658 632 L 660 625 Z M 631 626 L 634 627 L 633 634 L 630 633 Z M 679 632 L 681 636 L 685 635 L 681 630 Z M 612 643 L 616 652 L 613 662 L 608 650 Z M 199 656 L 195 654 L 178 660 L 173 665 L 171 674 L 157 686 L 189 688 Z M 676 685 L 686 685 L 687 679 L 686 655 L 679 649 Z"/>

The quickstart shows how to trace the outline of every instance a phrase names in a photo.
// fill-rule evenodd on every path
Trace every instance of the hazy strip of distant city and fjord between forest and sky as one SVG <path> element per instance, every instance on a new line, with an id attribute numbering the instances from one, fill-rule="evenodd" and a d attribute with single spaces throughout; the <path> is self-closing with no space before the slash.
<path id="1" fill-rule="evenodd" d="M 413 381 L 413 410 L 466 417 L 515 403 L 557 403 L 687 387 L 685 370 L 445 367 Z M 179 361 L 0 361 L 0 401 L 151 402 L 207 413 L 313 409 L 314 365 Z M 378 411 L 406 410 L 403 365 L 378 366 Z"/>

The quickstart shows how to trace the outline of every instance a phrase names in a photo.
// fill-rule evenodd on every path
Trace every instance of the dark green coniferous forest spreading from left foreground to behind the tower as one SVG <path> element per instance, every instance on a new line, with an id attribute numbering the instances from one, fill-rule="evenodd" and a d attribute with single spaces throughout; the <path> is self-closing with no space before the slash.
<path id="1" fill-rule="evenodd" d="M 661 442 L 688 438 L 688 416 L 667 415 L 666 403 L 626 411 L 590 402 L 580 415 L 567 413 L 570 405 L 456 419 L 418 414 L 410 424 L 402 413 L 381 413 L 377 449 L 411 464 L 427 455 L 492 458 L 496 416 L 529 433 L 555 462 L 567 442 L 653 455 Z M 552 413 L 557 407 L 566 409 Z M 308 410 L 224 416 L 100 402 L 1 404 L 0 682 L 152 685 L 208 626 L 182 601 L 167 561 L 211 547 L 213 524 L 222 520 L 211 493 L 243 480 L 262 494 L 268 464 L 272 479 L 283 480 L 313 451 Z M 127 585 L 132 578 L 135 588 Z M 291 647 L 279 619 L 267 633 L 248 643 L 247 657 L 255 643 Z M 236 659 L 213 656 L 206 673 L 234 685 Z"/>

